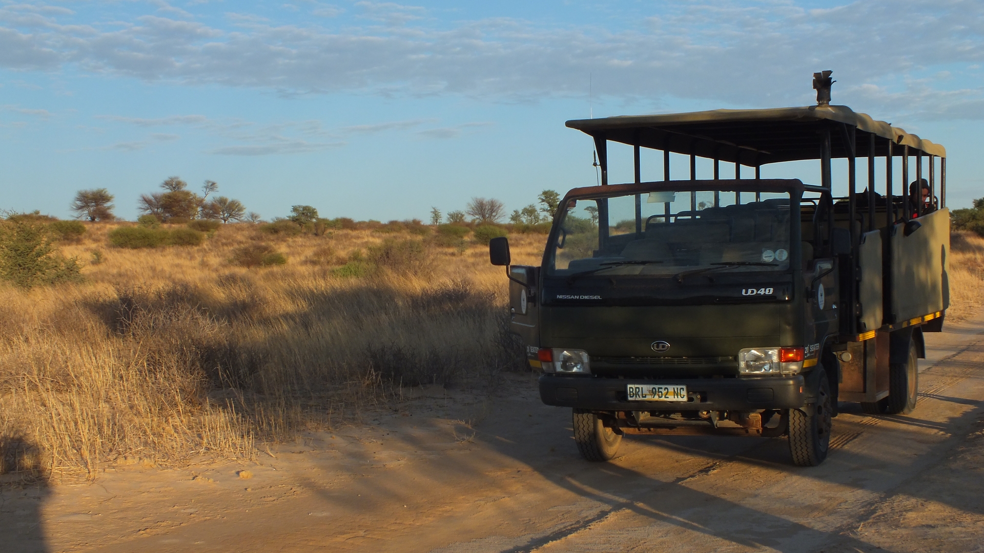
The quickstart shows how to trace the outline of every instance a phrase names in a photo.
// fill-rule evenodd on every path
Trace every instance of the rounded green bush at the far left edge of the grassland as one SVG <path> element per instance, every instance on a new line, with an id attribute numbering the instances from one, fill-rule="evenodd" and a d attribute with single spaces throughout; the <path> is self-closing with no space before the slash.
<path id="1" fill-rule="evenodd" d="M 82 280 L 78 259 L 66 259 L 52 245 L 53 231 L 43 219 L 0 222 L 0 279 L 30 288 Z"/>

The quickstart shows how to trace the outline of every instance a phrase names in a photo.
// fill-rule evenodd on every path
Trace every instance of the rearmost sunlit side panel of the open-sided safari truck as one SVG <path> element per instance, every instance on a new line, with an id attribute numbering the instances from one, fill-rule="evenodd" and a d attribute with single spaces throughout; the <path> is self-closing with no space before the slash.
<path id="1" fill-rule="evenodd" d="M 921 226 L 904 235 L 892 228 L 892 315 L 901 322 L 950 306 L 950 210 L 914 220 Z"/>

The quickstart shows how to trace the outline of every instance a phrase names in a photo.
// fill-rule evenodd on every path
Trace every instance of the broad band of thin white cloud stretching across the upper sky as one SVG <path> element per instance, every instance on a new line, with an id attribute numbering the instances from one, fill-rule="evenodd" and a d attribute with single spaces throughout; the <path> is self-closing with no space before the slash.
<path id="1" fill-rule="evenodd" d="M 875 107 L 866 102 L 905 94 L 909 101 L 897 102 L 896 114 L 981 117 L 976 106 L 984 92 L 958 84 L 956 75 L 984 62 L 984 2 L 857 0 L 823 10 L 780 1 L 660 6 L 662 13 L 629 30 L 601 23 L 538 27 L 506 18 L 437 28 L 421 7 L 357 2 L 358 17 L 385 25 L 329 31 L 310 22 L 250 20 L 226 31 L 143 16 L 103 31 L 61 26 L 58 13 L 8 5 L 0 8 L 6 26 L 0 27 L 0 67 L 69 65 L 147 81 L 286 94 L 453 93 L 496 101 L 586 96 L 591 75 L 595 94 L 649 105 L 677 96 L 758 106 L 811 103 L 811 74 L 832 69 L 838 103 L 866 109 Z M 940 71 L 951 75 L 925 85 L 930 92 L 910 95 L 910 82 Z M 865 92 L 862 84 L 885 93 Z"/>

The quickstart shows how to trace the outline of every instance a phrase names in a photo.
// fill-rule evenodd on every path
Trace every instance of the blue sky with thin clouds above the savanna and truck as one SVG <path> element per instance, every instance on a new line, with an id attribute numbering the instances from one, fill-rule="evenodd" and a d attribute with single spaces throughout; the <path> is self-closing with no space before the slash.
<path id="1" fill-rule="evenodd" d="M 518 209 L 594 183 L 567 119 L 809 105 L 824 69 L 834 103 L 946 146 L 967 207 L 982 63 L 979 0 L 0 0 L 0 209 L 68 217 L 105 187 L 135 218 L 171 175 L 266 218 Z"/>

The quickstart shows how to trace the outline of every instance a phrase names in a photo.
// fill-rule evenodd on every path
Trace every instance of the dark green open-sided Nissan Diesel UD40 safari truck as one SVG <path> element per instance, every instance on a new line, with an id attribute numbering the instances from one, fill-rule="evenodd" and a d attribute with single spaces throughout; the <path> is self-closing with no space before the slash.
<path id="1" fill-rule="evenodd" d="M 915 407 L 949 305 L 946 151 L 830 105 L 831 83 L 815 74 L 807 107 L 567 122 L 593 139 L 599 184 L 566 194 L 539 267 L 510 265 L 506 238 L 489 254 L 585 459 L 625 434 L 785 435 L 817 465 L 838 401 Z M 609 183 L 612 146 L 631 147 L 634 182 Z"/>

